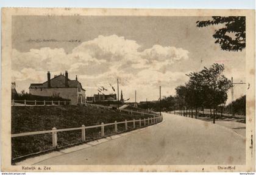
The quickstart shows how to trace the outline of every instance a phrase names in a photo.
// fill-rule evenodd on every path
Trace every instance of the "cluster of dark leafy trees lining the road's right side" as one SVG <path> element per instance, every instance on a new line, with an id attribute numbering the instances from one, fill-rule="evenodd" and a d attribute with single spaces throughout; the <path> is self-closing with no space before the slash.
<path id="1" fill-rule="evenodd" d="M 210 68 L 204 67 L 200 72 L 187 74 L 190 78 L 184 86 L 176 87 L 176 99 L 179 109 L 193 109 L 197 117 L 197 109 L 213 109 L 213 123 L 215 123 L 216 109 L 224 105 L 227 100 L 227 91 L 232 86 L 224 75 L 224 64 L 213 64 Z M 187 113 L 186 113 L 187 114 Z"/>

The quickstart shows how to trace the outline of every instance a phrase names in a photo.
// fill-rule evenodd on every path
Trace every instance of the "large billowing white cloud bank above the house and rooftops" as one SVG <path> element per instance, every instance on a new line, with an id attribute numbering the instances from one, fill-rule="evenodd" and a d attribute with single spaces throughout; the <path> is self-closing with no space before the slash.
<path id="1" fill-rule="evenodd" d="M 98 38 L 81 43 L 71 53 L 49 47 L 30 49 L 29 52 L 13 49 L 12 77 L 15 81 L 32 80 L 31 83 L 40 83 L 46 80 L 48 70 L 57 74 L 68 70 L 69 74 L 77 74 L 84 86 L 90 87 L 89 94 L 97 92 L 93 87 L 115 84 L 116 78 L 119 78 L 128 96 L 133 94 L 135 87 L 146 91 L 151 86 L 153 91 L 157 84 L 167 86 L 169 83 L 172 86 L 171 81 L 185 82 L 185 73 L 161 69 L 187 60 L 187 50 L 160 45 L 142 51 L 139 48 L 136 41 L 123 36 L 99 35 Z"/>

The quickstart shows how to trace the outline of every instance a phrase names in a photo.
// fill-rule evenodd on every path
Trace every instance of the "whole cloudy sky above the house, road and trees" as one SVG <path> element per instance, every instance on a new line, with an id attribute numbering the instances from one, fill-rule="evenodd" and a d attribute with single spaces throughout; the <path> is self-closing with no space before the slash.
<path id="1" fill-rule="evenodd" d="M 119 78 L 124 98 L 157 100 L 174 95 L 185 75 L 213 63 L 225 65 L 227 78 L 245 80 L 245 50 L 227 52 L 215 44 L 215 27 L 197 28 L 210 17 L 163 16 L 15 16 L 12 18 L 12 78 L 16 90 L 29 91 L 68 70 L 76 75 L 87 96 L 104 86 L 116 88 Z M 235 98 L 246 86 L 235 87 Z M 230 91 L 229 99 L 230 101 Z"/>

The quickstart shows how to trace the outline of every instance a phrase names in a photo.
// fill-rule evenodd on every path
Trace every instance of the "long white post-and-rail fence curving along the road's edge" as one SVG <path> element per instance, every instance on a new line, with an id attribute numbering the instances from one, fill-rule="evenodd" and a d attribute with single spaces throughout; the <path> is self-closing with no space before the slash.
<path id="1" fill-rule="evenodd" d="M 18 133 L 18 134 L 12 134 L 12 138 L 14 137 L 24 137 L 24 136 L 32 136 L 32 135 L 37 135 L 37 134 L 48 134 L 48 133 L 51 133 L 52 134 L 52 147 L 53 148 L 57 148 L 57 132 L 63 132 L 63 131 L 75 131 L 75 130 L 81 130 L 81 140 L 82 142 L 85 142 L 86 139 L 85 139 L 85 129 L 90 129 L 90 128 L 101 128 L 101 137 L 104 137 L 105 136 L 105 132 L 104 132 L 104 127 L 105 126 L 110 126 L 110 125 L 115 125 L 115 133 L 117 134 L 118 133 L 118 125 L 119 124 L 124 124 L 125 126 L 125 131 L 128 130 L 128 127 L 127 127 L 127 123 L 133 123 L 133 129 L 136 128 L 136 122 L 139 123 L 139 128 L 141 128 L 141 125 L 143 123 L 143 126 L 149 126 L 149 125 L 154 125 L 156 123 L 159 123 L 159 122 L 162 122 L 163 120 L 163 117 L 162 115 L 157 115 L 157 117 L 154 115 L 154 117 L 151 117 L 151 118 L 143 118 L 143 119 L 139 119 L 139 120 L 130 120 L 130 121 L 127 121 L 125 120 L 124 122 L 114 122 L 114 123 L 101 123 L 101 125 L 94 125 L 94 126 L 85 126 L 85 125 L 82 125 L 81 127 L 79 128 L 66 128 L 66 129 L 57 129 L 57 128 L 52 128 L 52 130 L 47 130 L 47 131 L 35 131 L 35 132 L 23 132 L 23 133 Z"/>

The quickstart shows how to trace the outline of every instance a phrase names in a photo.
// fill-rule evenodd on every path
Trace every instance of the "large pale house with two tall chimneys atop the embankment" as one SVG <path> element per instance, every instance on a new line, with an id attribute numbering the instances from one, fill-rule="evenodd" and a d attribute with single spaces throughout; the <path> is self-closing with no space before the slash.
<path id="1" fill-rule="evenodd" d="M 44 83 L 32 83 L 29 86 L 29 94 L 40 96 L 57 96 L 71 100 L 71 105 L 85 103 L 85 89 L 77 80 L 68 78 L 68 71 L 65 75 L 57 75 L 51 79 L 51 74 L 47 73 L 48 80 Z"/>

